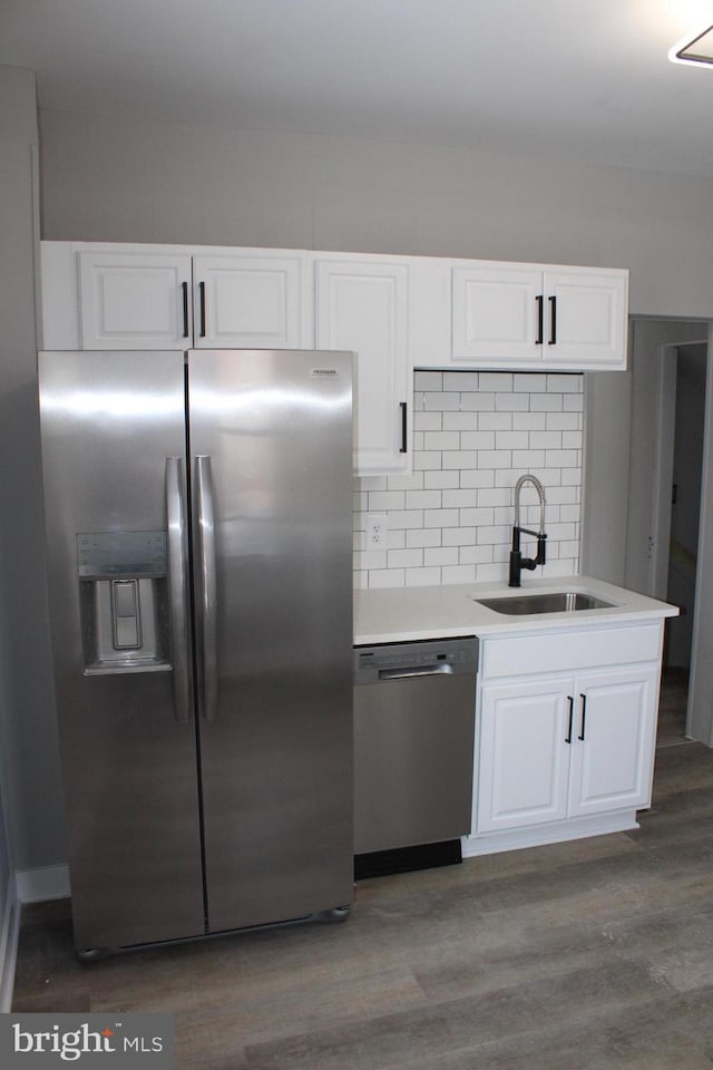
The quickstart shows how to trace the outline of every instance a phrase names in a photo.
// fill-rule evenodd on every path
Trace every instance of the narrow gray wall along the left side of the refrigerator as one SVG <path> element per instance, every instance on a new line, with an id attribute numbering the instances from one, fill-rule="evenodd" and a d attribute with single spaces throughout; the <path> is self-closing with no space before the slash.
<path id="1" fill-rule="evenodd" d="M 37 110 L 0 67 L 0 873 L 65 859 L 37 414 Z M 4 848 L 4 849 L 3 849 Z M 3 891 L 6 882 L 3 882 Z"/>

